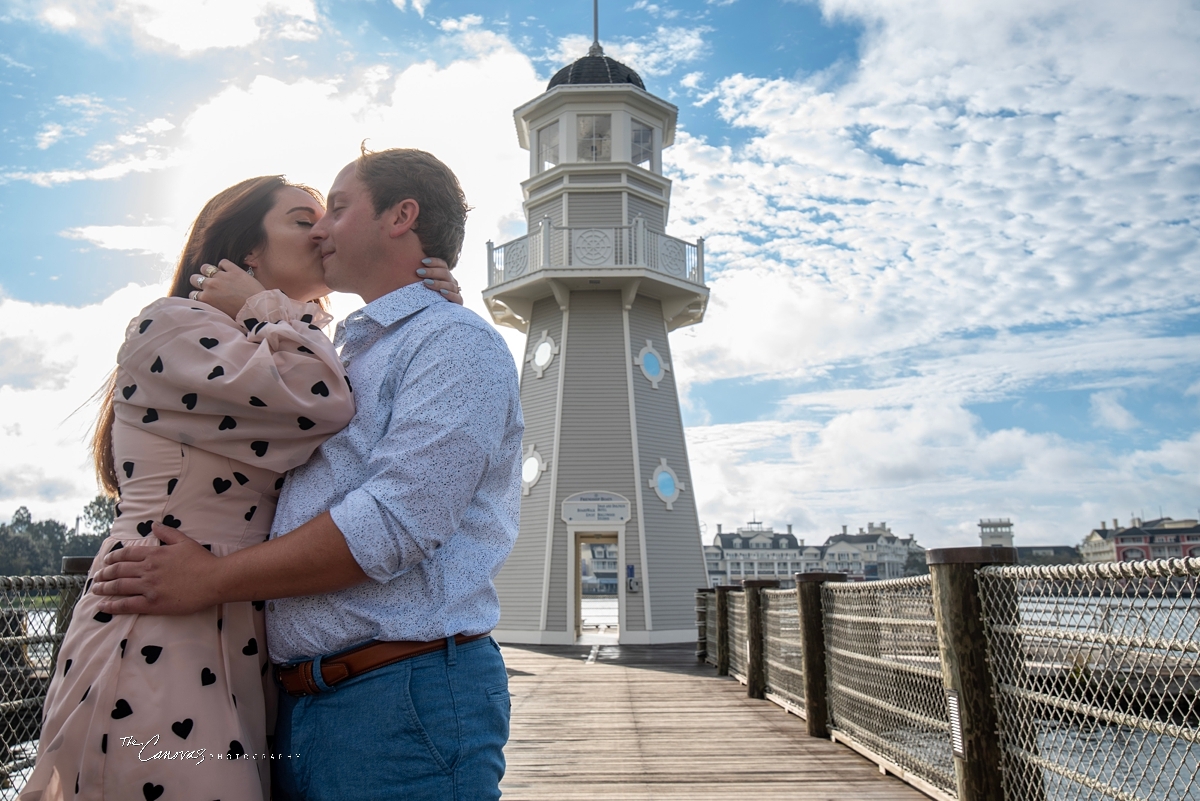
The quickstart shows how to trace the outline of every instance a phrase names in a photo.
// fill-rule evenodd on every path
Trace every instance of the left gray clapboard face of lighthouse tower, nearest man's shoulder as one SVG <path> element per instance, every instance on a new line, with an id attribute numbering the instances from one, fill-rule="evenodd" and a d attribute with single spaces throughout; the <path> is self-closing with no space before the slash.
<path id="1" fill-rule="evenodd" d="M 526 356 L 541 341 L 541 332 L 548 331 L 556 344 L 563 342 L 563 313 L 553 299 L 534 303 L 530 319 L 530 337 L 526 344 Z M 524 359 L 524 357 L 522 357 Z M 554 453 L 554 417 L 558 410 L 558 372 L 562 354 L 554 356 L 550 366 L 538 378 L 528 361 L 521 367 L 521 411 L 524 415 L 522 452 L 534 444 L 542 459 L 552 460 Z M 529 495 L 521 499 L 521 528 L 512 553 L 496 577 L 496 589 L 500 597 L 499 628 L 536 631 L 541 627 L 542 582 L 546 568 L 546 523 L 553 512 L 550 496 L 551 471 L 541 474 Z M 556 513 L 557 516 L 557 513 Z"/>

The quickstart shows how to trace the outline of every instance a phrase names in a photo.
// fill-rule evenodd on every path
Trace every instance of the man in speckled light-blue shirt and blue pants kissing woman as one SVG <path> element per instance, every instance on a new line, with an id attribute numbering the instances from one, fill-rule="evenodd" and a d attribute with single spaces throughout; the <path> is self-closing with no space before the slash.
<path id="1" fill-rule="evenodd" d="M 112 613 L 275 598 L 276 799 L 499 797 L 508 677 L 487 633 L 520 513 L 516 371 L 418 275 L 454 266 L 466 212 L 428 153 L 342 169 L 312 237 L 325 283 L 366 301 L 337 332 L 354 420 L 288 478 L 269 542 L 218 559 L 158 526 L 162 547 L 97 576 Z"/>

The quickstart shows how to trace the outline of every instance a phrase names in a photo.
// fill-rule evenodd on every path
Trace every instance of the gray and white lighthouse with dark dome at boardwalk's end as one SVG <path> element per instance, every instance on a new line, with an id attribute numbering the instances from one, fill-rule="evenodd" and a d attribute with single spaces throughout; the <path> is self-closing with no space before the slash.
<path id="1" fill-rule="evenodd" d="M 677 114 L 599 41 L 514 112 L 528 228 L 488 242 L 484 293 L 498 325 L 527 335 L 500 642 L 575 643 L 601 573 L 619 643 L 696 638 L 708 582 L 668 335 L 703 319 L 708 289 L 703 240 L 666 233 Z"/>

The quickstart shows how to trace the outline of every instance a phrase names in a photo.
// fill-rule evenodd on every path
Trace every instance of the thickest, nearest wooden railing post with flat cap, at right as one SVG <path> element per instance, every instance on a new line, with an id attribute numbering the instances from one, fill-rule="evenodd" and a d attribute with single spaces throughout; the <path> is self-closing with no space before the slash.
<path id="1" fill-rule="evenodd" d="M 1016 564 L 1015 548 L 935 548 L 925 553 L 934 589 L 959 801 L 1003 801 L 1000 725 L 976 576 Z"/>

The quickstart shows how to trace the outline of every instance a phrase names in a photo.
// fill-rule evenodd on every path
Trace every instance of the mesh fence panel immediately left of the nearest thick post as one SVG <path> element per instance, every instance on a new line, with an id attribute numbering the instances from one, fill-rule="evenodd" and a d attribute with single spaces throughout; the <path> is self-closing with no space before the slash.
<path id="1" fill-rule="evenodd" d="M 830 730 L 955 796 L 930 578 L 828 583 L 821 601 Z"/>

